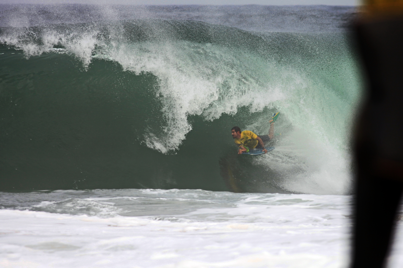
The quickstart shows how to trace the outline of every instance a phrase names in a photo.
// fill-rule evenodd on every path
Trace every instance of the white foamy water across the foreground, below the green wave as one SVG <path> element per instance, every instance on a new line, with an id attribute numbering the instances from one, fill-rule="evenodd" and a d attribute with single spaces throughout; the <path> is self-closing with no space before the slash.
<path id="1" fill-rule="evenodd" d="M 177 196 L 166 202 L 182 208 L 193 206 L 183 195 L 220 202 L 183 214 L 166 211 L 167 219 L 187 221 L 0 210 L 0 266 L 339 268 L 347 264 L 350 197 L 200 190 L 143 194 Z M 232 206 L 223 207 L 223 202 Z"/>

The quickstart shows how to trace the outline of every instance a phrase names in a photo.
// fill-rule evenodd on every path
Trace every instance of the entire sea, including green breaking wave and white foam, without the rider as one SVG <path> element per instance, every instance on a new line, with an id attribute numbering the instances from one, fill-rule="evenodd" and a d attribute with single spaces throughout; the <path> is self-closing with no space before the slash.
<path id="1" fill-rule="evenodd" d="M 356 16 L 0 5 L 0 267 L 347 267 Z"/>

